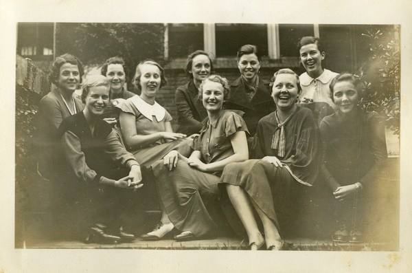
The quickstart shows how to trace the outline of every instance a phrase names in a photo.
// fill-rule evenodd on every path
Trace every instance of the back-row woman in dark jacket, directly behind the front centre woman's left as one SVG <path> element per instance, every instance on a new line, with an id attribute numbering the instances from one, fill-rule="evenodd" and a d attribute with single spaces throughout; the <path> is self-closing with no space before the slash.
<path id="1" fill-rule="evenodd" d="M 185 72 L 191 80 L 176 89 L 175 102 L 179 123 L 177 132 L 192 135 L 199 133 L 203 127 L 201 122 L 207 117 L 207 111 L 197 97 L 202 80 L 213 72 L 209 54 L 203 50 L 196 50 L 190 54 L 187 57 Z"/>

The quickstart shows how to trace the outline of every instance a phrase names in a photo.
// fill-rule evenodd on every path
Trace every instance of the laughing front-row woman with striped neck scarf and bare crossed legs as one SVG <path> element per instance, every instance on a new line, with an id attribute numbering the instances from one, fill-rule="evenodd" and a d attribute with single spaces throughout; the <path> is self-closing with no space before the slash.
<path id="1" fill-rule="evenodd" d="M 271 86 L 277 110 L 258 123 L 251 146 L 251 157 L 256 159 L 228 164 L 220 177 L 246 229 L 251 250 L 261 248 L 265 239 L 269 250 L 288 246 L 279 234 L 277 213 L 281 207 L 293 206 L 290 196 L 302 186 L 311 186 L 318 171 L 319 131 L 312 112 L 296 105 L 301 93 L 299 77 L 290 69 L 280 69 Z M 253 208 L 262 220 L 264 237 Z M 236 215 L 225 213 L 240 233 Z"/>

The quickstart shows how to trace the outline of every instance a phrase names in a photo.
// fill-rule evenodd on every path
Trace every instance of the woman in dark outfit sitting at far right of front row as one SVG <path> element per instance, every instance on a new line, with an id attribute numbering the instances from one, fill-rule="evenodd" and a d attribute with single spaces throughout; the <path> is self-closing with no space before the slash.
<path id="1" fill-rule="evenodd" d="M 337 110 L 319 125 L 324 153 L 321 173 L 336 200 L 334 228 L 340 228 L 335 241 L 363 241 L 360 230 L 374 214 L 365 213 L 365 205 L 376 198 L 378 171 L 387 158 L 385 122 L 378 113 L 358 106 L 362 94 L 361 81 L 352 74 L 336 76 L 330 83 L 330 97 Z"/>

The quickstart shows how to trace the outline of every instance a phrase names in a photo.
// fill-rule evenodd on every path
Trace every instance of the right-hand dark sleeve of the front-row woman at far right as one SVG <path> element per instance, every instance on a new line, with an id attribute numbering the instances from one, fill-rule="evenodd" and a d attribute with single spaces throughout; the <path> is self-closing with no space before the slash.
<path id="1" fill-rule="evenodd" d="M 371 142 L 371 154 L 374 163 L 369 171 L 359 179 L 359 182 L 363 184 L 363 186 L 367 186 L 374 182 L 378 171 L 382 168 L 382 164 L 384 164 L 387 159 L 385 122 L 377 114 L 371 115 L 367 122 L 371 123 L 369 125 L 371 133 L 371 135 L 369 135 L 369 141 Z"/>

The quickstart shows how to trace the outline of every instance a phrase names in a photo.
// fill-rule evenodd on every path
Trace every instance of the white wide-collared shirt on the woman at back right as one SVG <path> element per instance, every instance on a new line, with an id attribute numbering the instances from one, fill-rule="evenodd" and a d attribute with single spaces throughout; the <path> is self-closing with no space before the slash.
<path id="1" fill-rule="evenodd" d="M 308 72 L 301 74 L 299 80 L 302 87 L 302 93 L 299 96 L 299 100 L 302 101 L 304 98 L 308 98 L 313 100 L 313 102 L 326 102 L 335 109 L 336 106 L 330 98 L 329 85 L 337 75 L 338 73 L 328 69 L 323 69 L 323 73 L 317 78 L 310 77 Z"/>

